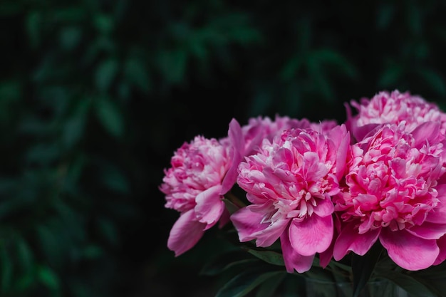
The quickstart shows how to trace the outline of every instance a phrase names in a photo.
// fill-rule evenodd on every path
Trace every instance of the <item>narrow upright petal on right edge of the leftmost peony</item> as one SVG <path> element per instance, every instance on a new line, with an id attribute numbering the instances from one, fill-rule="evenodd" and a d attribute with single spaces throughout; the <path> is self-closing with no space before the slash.
<path id="1" fill-rule="evenodd" d="M 231 123 L 229 123 L 228 136 L 229 141 L 232 144 L 232 164 L 222 181 L 222 191 L 220 192 L 222 195 L 229 192 L 229 190 L 232 189 L 232 186 L 234 186 L 237 180 L 237 167 L 244 156 L 244 137 L 242 134 L 242 127 L 240 127 L 239 122 L 235 119 L 232 119 Z"/>

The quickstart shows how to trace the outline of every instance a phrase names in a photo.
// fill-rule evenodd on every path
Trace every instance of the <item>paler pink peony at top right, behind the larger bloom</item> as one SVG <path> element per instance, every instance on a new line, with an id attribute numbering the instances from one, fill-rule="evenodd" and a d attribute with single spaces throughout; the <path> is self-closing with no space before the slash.
<path id="1" fill-rule="evenodd" d="M 346 105 L 346 124 L 356 140 L 362 140 L 377 125 L 398 124 L 402 121 L 405 121 L 405 129 L 409 132 L 429 121 L 440 122 L 442 134 L 446 132 L 446 114 L 435 103 L 427 102 L 424 98 L 411 95 L 409 92 L 381 91 L 370 100 L 362 98 L 360 103 L 351 100 L 351 105 L 356 108 L 358 114 L 352 116 L 350 106 Z"/>

